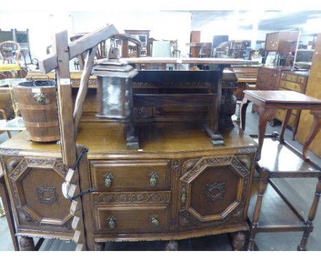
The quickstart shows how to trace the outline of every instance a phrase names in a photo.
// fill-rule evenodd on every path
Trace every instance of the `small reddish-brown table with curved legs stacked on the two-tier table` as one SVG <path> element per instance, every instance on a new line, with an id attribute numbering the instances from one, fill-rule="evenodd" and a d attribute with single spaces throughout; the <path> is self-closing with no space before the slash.
<path id="1" fill-rule="evenodd" d="M 264 141 L 266 122 L 269 117 L 274 115 L 275 109 L 285 109 L 287 113 L 282 123 L 281 134 L 279 136 L 280 143 L 284 142 L 284 132 L 289 121 L 292 110 L 311 110 L 313 115 L 313 125 L 307 141 L 303 145 L 302 155 L 307 159 L 307 149 L 318 134 L 321 128 L 321 100 L 297 93 L 295 91 L 243 91 L 244 98 L 241 102 L 241 129 L 245 130 L 246 126 L 246 108 L 250 102 L 259 106 L 259 149 L 257 151 L 257 160 L 261 158 L 261 150 Z"/>

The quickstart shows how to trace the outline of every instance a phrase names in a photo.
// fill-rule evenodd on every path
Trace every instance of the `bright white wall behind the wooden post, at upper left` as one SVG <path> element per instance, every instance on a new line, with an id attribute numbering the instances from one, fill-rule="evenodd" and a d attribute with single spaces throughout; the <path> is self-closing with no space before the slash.
<path id="1" fill-rule="evenodd" d="M 170 11 L 0 11 L 2 30 L 29 29 L 32 58 L 46 54 L 53 43 L 53 35 L 68 29 L 69 36 L 91 32 L 107 23 L 114 24 L 119 32 L 124 29 L 151 30 L 150 37 L 157 40 L 178 39 L 178 49 L 188 53 L 191 14 Z"/>

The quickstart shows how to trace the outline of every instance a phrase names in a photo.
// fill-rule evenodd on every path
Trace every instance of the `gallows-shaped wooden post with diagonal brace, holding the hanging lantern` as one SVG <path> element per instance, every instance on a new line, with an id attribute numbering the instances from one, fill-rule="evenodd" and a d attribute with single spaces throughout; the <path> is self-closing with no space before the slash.
<path id="1" fill-rule="evenodd" d="M 117 29 L 113 25 L 106 25 L 91 34 L 82 36 L 68 45 L 67 31 L 60 32 L 56 34 L 56 43 L 53 45 L 55 47 L 55 53 L 50 53 L 45 59 L 39 61 L 39 67 L 42 73 L 48 73 L 49 71 L 56 69 L 60 145 L 63 163 L 69 168 L 73 166 L 77 159 L 77 155 L 80 152 L 77 150 L 78 145 L 76 144 L 77 130 L 80 117 L 82 116 L 82 108 L 88 89 L 88 80 L 93 68 L 97 45 L 114 34 L 118 34 Z M 73 110 L 69 60 L 79 56 L 85 51 L 86 62 L 80 80 L 80 88 L 75 102 L 75 109 Z M 65 178 L 66 181 L 71 184 L 68 193 L 70 197 L 80 193 L 78 172 L 78 169 L 75 169 L 72 176 Z M 76 250 L 88 250 L 81 200 L 73 200 L 71 202 L 70 212 L 71 215 L 73 215 L 72 228 L 75 230 L 73 241 L 77 244 Z"/>

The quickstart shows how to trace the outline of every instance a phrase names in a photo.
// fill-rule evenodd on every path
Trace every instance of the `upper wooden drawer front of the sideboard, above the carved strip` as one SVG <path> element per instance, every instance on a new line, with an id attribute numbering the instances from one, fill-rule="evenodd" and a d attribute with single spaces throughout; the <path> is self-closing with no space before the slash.
<path id="1" fill-rule="evenodd" d="M 169 188 L 169 165 L 169 160 L 91 161 L 93 187 L 98 191 Z"/>

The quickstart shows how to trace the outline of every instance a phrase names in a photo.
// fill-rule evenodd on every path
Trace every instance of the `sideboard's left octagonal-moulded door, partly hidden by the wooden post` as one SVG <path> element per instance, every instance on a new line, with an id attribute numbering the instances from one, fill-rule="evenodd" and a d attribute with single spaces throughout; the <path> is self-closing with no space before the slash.
<path id="1" fill-rule="evenodd" d="M 23 158 L 17 163 L 9 180 L 19 225 L 71 229 L 71 202 L 61 190 L 67 171 L 55 159 Z"/>

